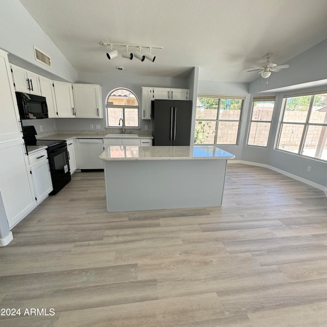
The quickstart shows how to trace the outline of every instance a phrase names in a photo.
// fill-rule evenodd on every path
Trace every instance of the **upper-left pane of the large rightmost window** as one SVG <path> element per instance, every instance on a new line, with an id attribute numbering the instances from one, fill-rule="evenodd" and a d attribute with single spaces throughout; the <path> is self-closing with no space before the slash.
<path id="1" fill-rule="evenodd" d="M 312 96 L 294 97 L 286 100 L 284 122 L 305 123 Z"/>

